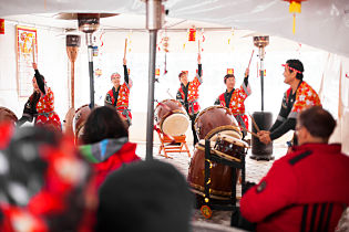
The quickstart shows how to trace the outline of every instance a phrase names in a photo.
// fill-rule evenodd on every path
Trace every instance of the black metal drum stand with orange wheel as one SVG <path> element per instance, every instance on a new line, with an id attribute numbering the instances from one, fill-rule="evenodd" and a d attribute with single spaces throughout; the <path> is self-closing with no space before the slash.
<path id="1" fill-rule="evenodd" d="M 205 139 L 205 183 L 204 183 L 204 203 L 201 208 L 203 215 L 206 219 L 212 217 L 212 210 L 226 210 L 226 211 L 235 211 L 238 207 L 236 207 L 236 182 L 237 175 L 235 170 L 232 170 L 232 196 L 229 200 L 222 201 L 220 203 L 213 203 L 211 199 L 211 168 L 212 161 L 217 164 L 223 164 L 229 166 L 232 168 L 242 170 L 242 192 L 245 188 L 245 156 L 247 155 L 247 148 L 242 154 L 240 161 L 237 160 L 228 160 L 224 159 L 214 152 L 211 152 L 209 140 Z"/>

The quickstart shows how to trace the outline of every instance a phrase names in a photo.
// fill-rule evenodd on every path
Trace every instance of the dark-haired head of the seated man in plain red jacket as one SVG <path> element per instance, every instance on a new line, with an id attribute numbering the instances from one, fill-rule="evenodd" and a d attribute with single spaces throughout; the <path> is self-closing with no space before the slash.
<path id="1" fill-rule="evenodd" d="M 335 118 L 321 106 L 312 106 L 305 109 L 297 119 L 298 144 L 328 143 L 335 127 Z"/>

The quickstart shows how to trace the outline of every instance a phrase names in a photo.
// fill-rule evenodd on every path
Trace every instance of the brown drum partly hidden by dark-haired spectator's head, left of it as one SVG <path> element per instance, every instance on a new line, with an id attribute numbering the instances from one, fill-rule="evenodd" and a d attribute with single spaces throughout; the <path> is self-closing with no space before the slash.
<path id="1" fill-rule="evenodd" d="M 74 117 L 73 117 L 73 133 L 75 143 L 79 144 L 79 140 L 81 139 L 83 135 L 83 127 L 86 123 L 86 119 L 91 113 L 91 108 L 88 104 L 81 106 L 75 110 Z"/>

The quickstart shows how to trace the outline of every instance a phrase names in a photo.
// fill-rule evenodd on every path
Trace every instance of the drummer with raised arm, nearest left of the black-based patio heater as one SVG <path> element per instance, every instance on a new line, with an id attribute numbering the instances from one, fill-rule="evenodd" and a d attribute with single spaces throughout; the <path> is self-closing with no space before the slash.
<path id="1" fill-rule="evenodd" d="M 235 87 L 234 74 L 224 76 L 224 84 L 227 86 L 225 93 L 220 94 L 215 102 L 215 105 L 220 105 L 229 108 L 235 116 L 239 126 L 248 129 L 248 117 L 245 115 L 245 99 L 250 95 L 250 85 L 248 83 L 249 70 L 246 68 L 245 78 L 239 88 Z M 246 131 L 243 130 L 244 137 Z"/>

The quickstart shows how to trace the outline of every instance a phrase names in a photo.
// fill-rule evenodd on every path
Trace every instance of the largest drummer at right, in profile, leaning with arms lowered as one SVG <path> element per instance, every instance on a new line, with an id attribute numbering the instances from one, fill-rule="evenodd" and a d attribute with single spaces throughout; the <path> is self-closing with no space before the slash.
<path id="1" fill-rule="evenodd" d="M 312 87 L 302 81 L 304 66 L 299 60 L 288 60 L 285 66 L 284 82 L 290 87 L 284 94 L 281 108 L 276 122 L 269 131 L 260 130 L 259 140 L 269 144 L 285 135 L 288 130 L 295 129 L 297 115 L 310 106 L 320 106 L 320 98 Z M 297 144 L 296 137 L 294 143 Z"/>

